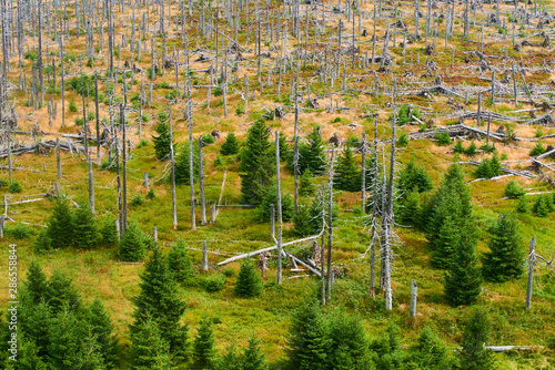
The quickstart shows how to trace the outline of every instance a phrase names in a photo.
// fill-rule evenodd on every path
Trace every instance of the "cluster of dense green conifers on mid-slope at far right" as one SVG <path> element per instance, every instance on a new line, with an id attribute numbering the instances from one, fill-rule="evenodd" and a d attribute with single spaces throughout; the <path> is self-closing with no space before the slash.
<path id="1" fill-rule="evenodd" d="M 445 270 L 445 297 L 452 306 L 475 302 L 483 279 L 505 282 L 522 276 L 524 246 L 512 213 L 500 215 L 488 229 L 490 250 L 478 257 L 480 230 L 460 165 L 448 167 L 435 194 L 423 195 L 432 182 L 423 167 L 410 163 L 400 173 L 400 188 L 398 218 L 426 233 L 431 264 Z"/>

